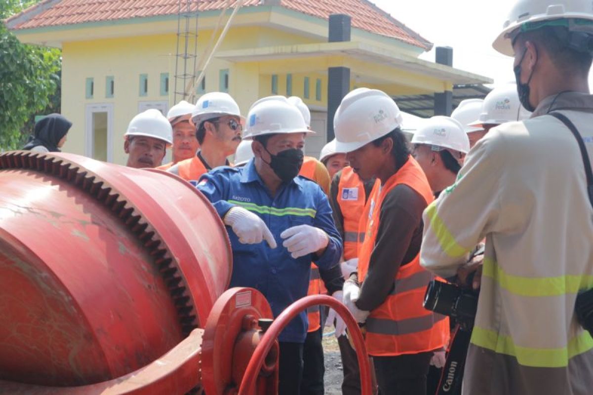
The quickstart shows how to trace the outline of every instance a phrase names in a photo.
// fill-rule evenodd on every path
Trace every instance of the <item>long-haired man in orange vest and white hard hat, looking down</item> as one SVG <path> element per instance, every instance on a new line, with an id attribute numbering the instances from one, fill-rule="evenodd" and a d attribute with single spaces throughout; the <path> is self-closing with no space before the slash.
<path id="1" fill-rule="evenodd" d="M 419 261 L 422 212 L 433 197 L 400 125 L 396 103 L 376 89 L 355 89 L 336 111 L 336 149 L 362 179 L 379 180 L 365 205 L 358 271 L 345 282 L 343 300 L 365 325 L 381 393 L 425 395 L 429 362 L 448 341 L 449 321 L 422 306 L 433 278 Z"/>

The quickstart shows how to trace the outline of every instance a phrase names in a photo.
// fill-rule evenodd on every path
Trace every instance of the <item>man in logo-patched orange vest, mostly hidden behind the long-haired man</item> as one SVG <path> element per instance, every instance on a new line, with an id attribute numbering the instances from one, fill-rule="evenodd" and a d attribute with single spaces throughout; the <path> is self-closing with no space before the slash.
<path id="1" fill-rule="evenodd" d="M 319 157 L 326 165 L 331 176 L 330 205 L 333 211 L 336 229 L 340 232 L 344 243 L 344 253 L 340 269 L 345 280 L 358 265 L 358 243 L 362 242 L 364 233 L 358 232 L 358 224 L 362 217 L 366 197 L 371 194 L 374 179 L 362 182 L 352 168 L 348 166 L 346 153 L 337 152 L 336 140 L 331 140 L 321 150 Z M 361 393 L 360 371 L 356 351 L 350 345 L 344 329 L 343 320 L 330 310 L 326 326 L 334 325 L 336 319 L 336 338 L 342 357 L 342 394 L 358 395 Z"/>

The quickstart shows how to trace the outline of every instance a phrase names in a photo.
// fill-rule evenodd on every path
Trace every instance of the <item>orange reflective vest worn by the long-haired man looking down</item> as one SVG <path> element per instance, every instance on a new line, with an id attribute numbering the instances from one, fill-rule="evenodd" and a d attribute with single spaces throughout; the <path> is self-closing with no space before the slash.
<path id="1" fill-rule="evenodd" d="M 375 184 L 365 206 L 367 217 L 361 220 L 361 230 L 366 225 L 365 240 L 358 255 L 358 279 L 361 284 L 365 280 L 371 253 L 375 248 L 381 205 L 385 196 L 399 184 L 405 184 L 418 192 L 427 204 L 433 200 L 426 176 L 412 156 L 385 185 L 380 187 Z M 394 265 L 399 263 L 394 262 Z M 366 319 L 365 342 L 369 355 L 418 354 L 447 345 L 448 317 L 422 307 L 426 286 L 433 278 L 430 272 L 420 266 L 420 253 L 400 267 L 394 290 Z"/>

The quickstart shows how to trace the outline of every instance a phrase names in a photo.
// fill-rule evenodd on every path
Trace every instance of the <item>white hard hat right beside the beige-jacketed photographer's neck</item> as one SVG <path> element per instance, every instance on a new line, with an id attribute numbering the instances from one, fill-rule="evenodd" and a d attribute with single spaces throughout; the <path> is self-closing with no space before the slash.
<path id="1" fill-rule="evenodd" d="M 517 84 L 514 82 L 492 89 L 482 105 L 482 113 L 471 126 L 499 125 L 505 122 L 522 121 L 531 113 L 519 101 Z"/>

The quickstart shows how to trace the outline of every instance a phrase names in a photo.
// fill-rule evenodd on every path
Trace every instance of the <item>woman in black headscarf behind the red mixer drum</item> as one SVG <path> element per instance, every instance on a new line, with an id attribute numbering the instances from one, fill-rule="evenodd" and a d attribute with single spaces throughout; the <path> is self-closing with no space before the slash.
<path id="1" fill-rule="evenodd" d="M 24 150 L 34 152 L 60 152 L 72 122 L 60 114 L 49 114 L 35 124 L 35 135 L 29 137 Z"/>

